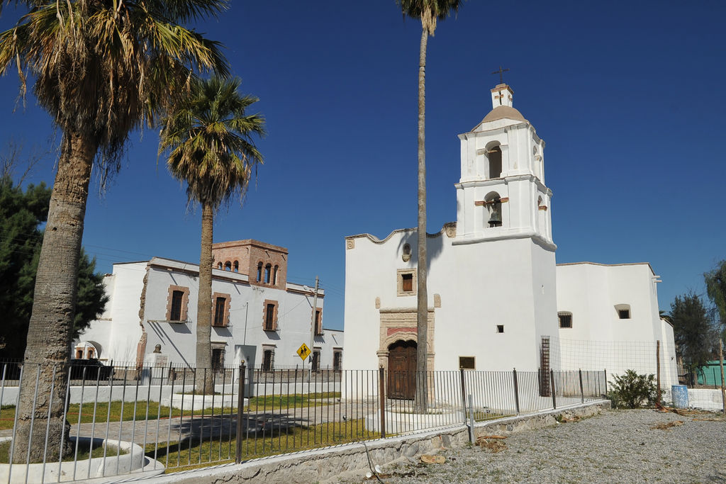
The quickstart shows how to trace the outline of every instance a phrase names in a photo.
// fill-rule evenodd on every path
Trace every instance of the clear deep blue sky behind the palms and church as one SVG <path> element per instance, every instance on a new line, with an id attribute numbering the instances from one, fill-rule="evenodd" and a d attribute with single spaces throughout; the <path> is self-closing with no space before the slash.
<path id="1" fill-rule="evenodd" d="M 314 5 L 314 7 L 311 7 Z M 456 218 L 457 134 L 491 109 L 491 75 L 510 69 L 514 105 L 547 142 L 557 261 L 648 261 L 659 303 L 703 292 L 726 258 L 726 30 L 720 1 L 471 0 L 428 43 L 428 228 Z M 17 13 L 3 10 L 0 28 Z M 420 23 L 393 0 L 232 1 L 197 26 L 227 47 L 242 91 L 260 97 L 265 165 L 244 203 L 216 218 L 216 242 L 290 250 L 288 279 L 325 297 L 343 327 L 346 235 L 416 225 Z M 53 128 L 17 75 L 0 78 L 0 144 L 45 146 Z M 159 255 L 199 260 L 200 210 L 156 156 L 155 130 L 132 134 L 103 195 L 91 181 L 83 244 L 100 271 Z M 52 182 L 54 156 L 32 181 Z"/>

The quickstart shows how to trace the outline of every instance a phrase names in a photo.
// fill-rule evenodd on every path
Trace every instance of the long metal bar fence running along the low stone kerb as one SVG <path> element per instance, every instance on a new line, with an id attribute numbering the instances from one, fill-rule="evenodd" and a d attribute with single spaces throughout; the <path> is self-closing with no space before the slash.
<path id="1" fill-rule="evenodd" d="M 18 385 L 35 385 L 37 369 L 6 364 L 1 370 L 0 435 L 9 438 L 10 461 L 17 445 L 44 445 L 17 438 Z M 214 392 L 196 393 L 195 381 L 210 374 Z M 62 441 L 76 443 L 76 453 L 69 462 L 6 465 L 0 483 L 26 476 L 28 482 L 57 482 L 61 475 L 78 480 L 241 462 L 557 409 L 607 393 L 602 371 L 460 370 L 423 377 L 383 369 L 263 372 L 244 366 L 218 371 L 91 365 L 73 368 L 65 378 L 64 412 L 71 430 Z M 424 381 L 428 392 L 417 405 L 416 385 Z M 36 417 L 43 415 L 41 409 L 30 414 L 38 418 L 36 425 L 45 424 Z"/>

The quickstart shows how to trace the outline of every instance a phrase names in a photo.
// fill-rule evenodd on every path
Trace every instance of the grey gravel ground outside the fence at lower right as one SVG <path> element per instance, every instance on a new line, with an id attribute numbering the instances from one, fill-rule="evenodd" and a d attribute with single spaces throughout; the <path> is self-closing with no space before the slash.
<path id="1" fill-rule="evenodd" d="M 718 419 L 707 421 L 703 419 Z M 666 430 L 656 424 L 682 421 Z M 726 483 L 726 419 L 653 410 L 605 411 L 542 430 L 519 432 L 504 450 L 444 451 L 444 464 L 383 469 L 394 483 Z M 375 477 L 367 482 L 378 482 Z"/>

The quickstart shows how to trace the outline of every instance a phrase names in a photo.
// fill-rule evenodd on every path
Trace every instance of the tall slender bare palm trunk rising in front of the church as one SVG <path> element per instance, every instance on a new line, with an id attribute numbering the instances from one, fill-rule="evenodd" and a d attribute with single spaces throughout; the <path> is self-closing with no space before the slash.
<path id="1" fill-rule="evenodd" d="M 423 412 L 428 408 L 428 290 L 426 289 L 426 44 L 428 30 L 423 25 L 418 62 L 418 287 L 417 287 L 417 343 L 416 343 L 416 395 L 415 408 Z"/>

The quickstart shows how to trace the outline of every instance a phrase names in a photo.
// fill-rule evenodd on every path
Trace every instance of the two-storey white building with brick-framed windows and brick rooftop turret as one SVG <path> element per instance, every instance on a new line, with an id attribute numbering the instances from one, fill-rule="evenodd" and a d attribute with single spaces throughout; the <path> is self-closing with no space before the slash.
<path id="1" fill-rule="evenodd" d="M 213 366 L 340 368 L 343 332 L 322 326 L 325 291 L 316 296 L 287 282 L 285 247 L 248 239 L 214 244 L 212 253 Z M 170 363 L 194 366 L 198 284 L 192 263 L 114 264 L 106 311 L 79 337 L 74 356 L 135 364 L 161 345 Z M 295 353 L 303 343 L 313 351 L 306 361 Z"/>

